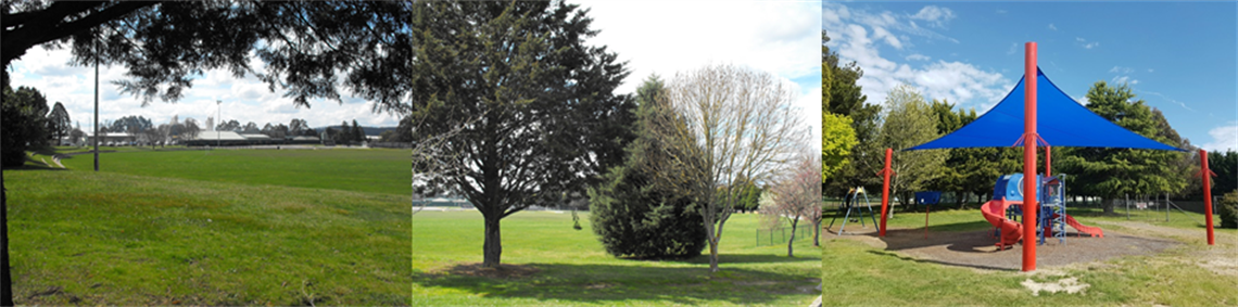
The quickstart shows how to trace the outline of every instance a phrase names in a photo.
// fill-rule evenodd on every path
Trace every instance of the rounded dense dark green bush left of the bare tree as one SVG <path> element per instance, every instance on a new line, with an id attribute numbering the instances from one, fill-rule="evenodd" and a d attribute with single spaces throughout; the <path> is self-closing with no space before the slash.
<path id="1" fill-rule="evenodd" d="M 646 178 L 620 166 L 589 188 L 589 220 L 607 253 L 638 259 L 701 255 L 706 246 L 701 214 L 690 201 L 659 192 Z"/>

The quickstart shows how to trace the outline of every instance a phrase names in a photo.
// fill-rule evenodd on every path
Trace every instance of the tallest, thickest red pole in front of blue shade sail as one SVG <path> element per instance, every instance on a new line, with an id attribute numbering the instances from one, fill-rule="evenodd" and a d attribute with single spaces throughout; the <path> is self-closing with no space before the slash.
<path id="1" fill-rule="evenodd" d="M 1023 271 L 1036 270 L 1036 42 L 1024 45 Z"/>

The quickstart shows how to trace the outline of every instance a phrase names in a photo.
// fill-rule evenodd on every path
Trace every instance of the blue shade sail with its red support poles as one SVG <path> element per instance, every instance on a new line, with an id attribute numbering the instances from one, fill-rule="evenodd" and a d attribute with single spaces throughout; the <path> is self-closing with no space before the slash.
<path id="1" fill-rule="evenodd" d="M 1037 87 L 1047 84 L 1046 87 Z M 1023 92 L 1023 95 L 1016 93 Z M 1044 104 L 1037 104 L 1037 100 Z M 1037 118 L 1037 113 L 1050 114 L 1050 116 Z M 1021 129 L 1019 129 L 1021 124 Z M 1086 131 L 1086 132 L 1080 132 Z M 1013 141 L 1013 144 L 1011 144 Z M 936 140 L 903 150 L 932 150 L 932 149 L 959 149 L 959 147 L 1023 147 L 1023 173 L 1039 175 L 1036 171 L 1037 149 L 1044 145 L 1045 150 L 1045 176 L 1050 172 L 1050 145 L 1073 147 L 1113 147 L 1113 149 L 1145 149 L 1145 150 L 1171 150 L 1185 151 L 1174 146 L 1160 144 L 1144 137 L 1130 130 L 1123 129 L 1112 121 L 1092 113 L 1070 95 L 1063 93 L 1057 85 L 1045 77 L 1036 66 L 1036 42 L 1024 45 L 1024 77 L 1011 92 L 995 106 L 985 111 L 971 124 L 967 124 Z M 889 188 L 893 149 L 885 149 L 885 167 L 881 170 L 881 222 L 879 235 L 885 236 L 885 220 L 889 217 Z M 1212 228 L 1212 191 L 1210 177 L 1216 176 L 1208 170 L 1207 152 L 1200 150 L 1201 172 L 1203 177 L 1205 196 L 1205 224 L 1207 229 L 1208 245 L 1214 245 Z M 1039 178 L 1039 176 L 1037 176 Z M 1009 182 L 1008 182 L 1009 183 Z M 1039 181 L 1023 181 L 1023 193 L 1037 196 Z M 1019 184 L 1008 184 L 1019 186 Z M 1019 203 L 1021 212 L 1021 225 L 1010 219 L 997 220 L 1003 231 L 1021 233 L 1020 238 L 1037 236 L 1039 197 L 1028 197 Z M 1013 201 L 1002 198 L 998 203 L 985 205 L 994 215 L 1014 205 Z M 1000 208 L 1000 210 L 998 210 Z M 987 214 L 988 215 L 988 214 Z M 1044 214 L 1039 214 L 1044 215 Z M 1065 214 L 1062 214 L 1065 215 Z M 927 218 L 927 217 L 926 217 Z M 1065 220 L 1073 222 L 1073 218 L 1063 217 Z M 1078 224 L 1077 222 L 1073 222 Z M 1018 225 L 1018 227 L 1015 227 Z M 1014 236 L 1013 234 L 1010 236 Z M 1005 234 L 1003 234 L 1005 238 Z M 1005 239 L 1003 239 L 1005 240 Z M 1024 240 L 1026 243 L 1026 240 Z M 1036 244 L 1023 245 L 1023 271 L 1036 270 Z"/>

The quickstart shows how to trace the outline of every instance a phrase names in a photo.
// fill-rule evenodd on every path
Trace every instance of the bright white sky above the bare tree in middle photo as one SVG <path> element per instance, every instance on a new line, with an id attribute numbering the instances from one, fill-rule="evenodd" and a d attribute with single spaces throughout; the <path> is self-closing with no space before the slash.
<path id="1" fill-rule="evenodd" d="M 764 71 L 792 84 L 806 146 L 821 146 L 821 6 L 818 1 L 568 1 L 589 9 L 607 46 L 631 74 L 618 93 L 635 93 L 650 74 L 662 80 L 708 64 Z M 820 150 L 818 150 L 820 151 Z"/>

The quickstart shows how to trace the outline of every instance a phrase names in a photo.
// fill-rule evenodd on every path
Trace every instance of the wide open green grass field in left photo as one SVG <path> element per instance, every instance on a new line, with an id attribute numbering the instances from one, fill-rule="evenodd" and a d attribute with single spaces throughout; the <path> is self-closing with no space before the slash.
<path id="1" fill-rule="evenodd" d="M 104 172 L 88 171 L 89 158 L 5 170 L 17 303 L 409 305 L 407 193 L 348 182 L 399 173 L 406 191 L 407 163 L 370 166 L 400 155 L 254 151 L 197 163 L 180 162 L 202 151 L 103 154 Z M 266 162 L 232 165 L 250 157 Z M 245 168 L 253 176 L 234 173 Z"/>

